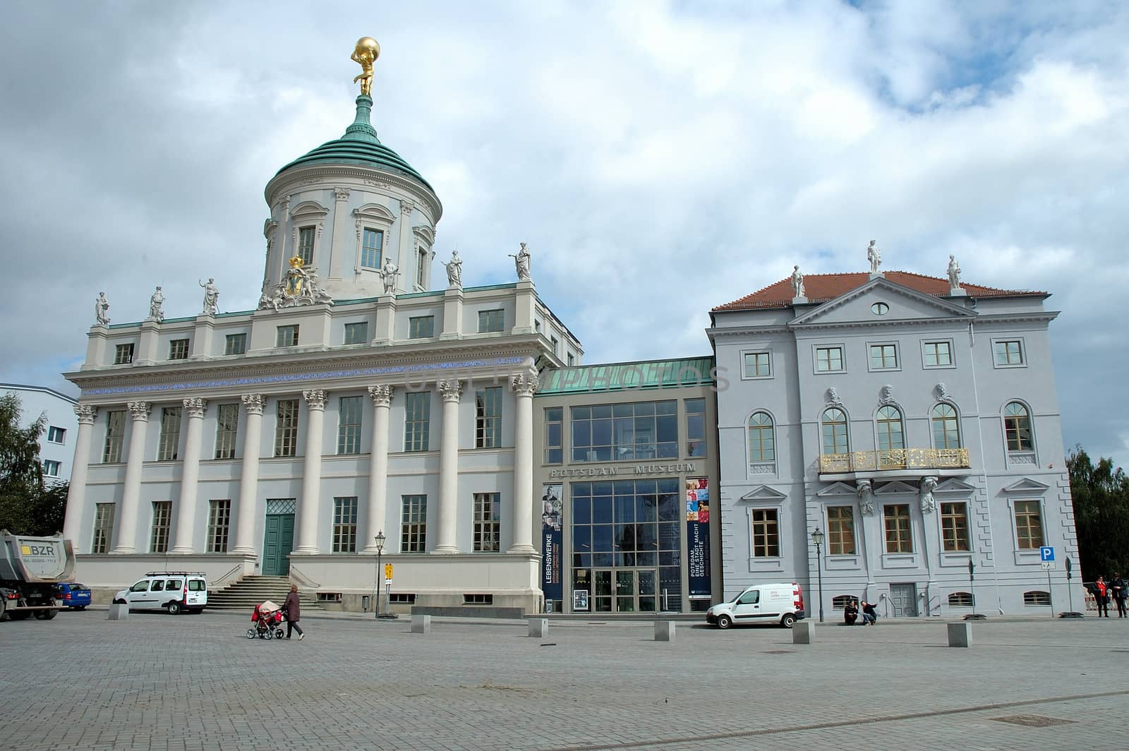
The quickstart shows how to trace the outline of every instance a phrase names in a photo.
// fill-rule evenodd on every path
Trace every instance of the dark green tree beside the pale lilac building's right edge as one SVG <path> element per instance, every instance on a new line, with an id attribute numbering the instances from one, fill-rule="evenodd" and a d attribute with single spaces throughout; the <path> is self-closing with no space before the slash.
<path id="1" fill-rule="evenodd" d="M 1115 571 L 1129 574 L 1129 477 L 1113 460 L 1094 464 L 1082 446 L 1075 446 L 1066 463 L 1082 576 L 1093 580 Z"/>

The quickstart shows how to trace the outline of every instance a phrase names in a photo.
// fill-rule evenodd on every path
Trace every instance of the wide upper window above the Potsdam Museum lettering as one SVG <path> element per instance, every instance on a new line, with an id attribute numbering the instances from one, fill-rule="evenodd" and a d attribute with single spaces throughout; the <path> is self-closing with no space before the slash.
<path id="1" fill-rule="evenodd" d="M 677 459 L 679 403 L 572 407 L 574 462 Z"/>

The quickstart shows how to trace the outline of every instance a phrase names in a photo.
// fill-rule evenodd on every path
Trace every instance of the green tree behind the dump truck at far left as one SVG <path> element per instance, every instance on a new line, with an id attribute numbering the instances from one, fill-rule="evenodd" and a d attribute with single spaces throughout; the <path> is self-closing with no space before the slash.
<path id="1" fill-rule="evenodd" d="M 0 396 L 0 530 L 51 535 L 63 527 L 69 484 L 43 480 L 40 437 L 47 425 L 41 414 L 20 427 L 19 396 Z"/>

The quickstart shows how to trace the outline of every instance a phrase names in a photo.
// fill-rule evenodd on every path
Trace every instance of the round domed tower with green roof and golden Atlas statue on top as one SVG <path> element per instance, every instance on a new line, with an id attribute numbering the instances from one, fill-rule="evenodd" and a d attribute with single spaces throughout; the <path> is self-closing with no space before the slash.
<path id="1" fill-rule="evenodd" d="M 335 140 L 286 165 L 266 184 L 264 300 L 286 285 L 301 259 L 334 300 L 384 292 L 382 268 L 399 270 L 396 292 L 426 291 L 443 204 L 423 177 L 387 146 L 369 122 L 376 40 L 357 42 L 361 64 L 357 116 Z M 390 277 L 391 279 L 391 277 Z"/>

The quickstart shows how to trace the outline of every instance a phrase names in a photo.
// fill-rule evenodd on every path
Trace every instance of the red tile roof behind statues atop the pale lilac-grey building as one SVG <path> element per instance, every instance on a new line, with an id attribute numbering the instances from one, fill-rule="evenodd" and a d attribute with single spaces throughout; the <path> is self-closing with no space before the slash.
<path id="1" fill-rule="evenodd" d="M 945 297 L 948 295 L 948 280 L 939 277 L 926 277 L 910 271 L 886 271 L 889 281 L 902 287 L 909 287 L 925 295 Z M 844 295 L 856 287 L 870 281 L 867 272 L 858 273 L 812 273 L 804 276 L 804 291 L 808 303 L 825 303 Z M 969 297 L 1045 297 L 1047 292 L 1031 290 L 996 289 L 980 285 L 961 283 Z M 752 295 L 725 305 L 718 305 L 714 311 L 746 311 L 763 307 L 788 307 L 791 305 L 791 277 L 769 285 Z"/>

